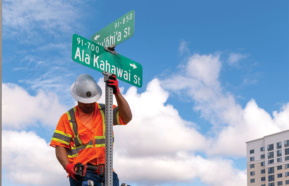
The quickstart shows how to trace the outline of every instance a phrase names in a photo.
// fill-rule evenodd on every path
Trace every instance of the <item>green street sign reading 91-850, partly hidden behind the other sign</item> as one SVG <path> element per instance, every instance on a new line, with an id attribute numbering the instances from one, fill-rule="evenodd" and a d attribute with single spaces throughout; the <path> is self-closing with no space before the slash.
<path id="1" fill-rule="evenodd" d="M 133 36 L 134 29 L 135 11 L 130 10 L 119 19 L 93 34 L 90 40 L 106 47 L 112 44 L 118 45 Z"/>

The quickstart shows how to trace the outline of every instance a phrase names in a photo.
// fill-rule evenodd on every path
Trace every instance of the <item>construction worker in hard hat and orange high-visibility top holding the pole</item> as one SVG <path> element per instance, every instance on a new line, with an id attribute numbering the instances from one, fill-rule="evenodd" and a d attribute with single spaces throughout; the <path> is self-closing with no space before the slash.
<path id="1" fill-rule="evenodd" d="M 130 107 L 119 92 L 116 75 L 112 74 L 109 79 L 106 84 L 112 87 L 118 105 L 113 105 L 113 124 L 126 125 L 132 118 Z M 87 180 L 100 186 L 105 178 L 101 179 L 93 169 L 87 169 L 86 175 L 79 178 L 76 165 L 98 168 L 100 164 L 105 164 L 105 105 L 96 102 L 102 90 L 93 77 L 81 74 L 71 85 L 70 93 L 78 105 L 60 117 L 50 145 L 55 148 L 58 161 L 69 174 L 70 186 L 82 185 Z M 113 186 L 119 186 L 115 172 Z"/>

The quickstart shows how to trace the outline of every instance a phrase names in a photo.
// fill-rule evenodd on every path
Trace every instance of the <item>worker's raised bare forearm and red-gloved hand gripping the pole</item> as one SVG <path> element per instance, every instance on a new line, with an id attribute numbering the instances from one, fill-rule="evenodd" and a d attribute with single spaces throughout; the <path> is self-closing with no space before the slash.
<path id="1" fill-rule="evenodd" d="M 112 74 L 109 76 L 111 80 L 107 80 L 107 86 L 112 87 L 113 89 L 113 94 L 115 96 L 118 110 L 119 110 L 119 115 L 121 116 L 121 119 L 123 123 L 128 123 L 132 119 L 132 114 L 128 105 L 128 102 L 124 99 L 124 97 L 121 95 L 119 92 L 119 84 L 116 79 L 116 75 Z"/>

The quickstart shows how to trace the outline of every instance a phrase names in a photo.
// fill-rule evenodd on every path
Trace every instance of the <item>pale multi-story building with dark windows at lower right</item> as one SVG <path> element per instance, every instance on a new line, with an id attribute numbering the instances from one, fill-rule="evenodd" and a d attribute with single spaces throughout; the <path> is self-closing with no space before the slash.
<path id="1" fill-rule="evenodd" d="M 289 130 L 246 145 L 248 186 L 289 186 Z"/>

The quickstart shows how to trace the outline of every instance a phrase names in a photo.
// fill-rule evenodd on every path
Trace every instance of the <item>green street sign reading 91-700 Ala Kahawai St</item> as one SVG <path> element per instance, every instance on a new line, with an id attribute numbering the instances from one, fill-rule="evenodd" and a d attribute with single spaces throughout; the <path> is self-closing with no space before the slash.
<path id="1" fill-rule="evenodd" d="M 114 73 L 117 79 L 142 87 L 142 65 L 77 34 L 72 35 L 72 60 L 96 71 Z"/>

